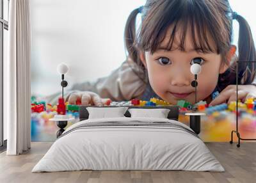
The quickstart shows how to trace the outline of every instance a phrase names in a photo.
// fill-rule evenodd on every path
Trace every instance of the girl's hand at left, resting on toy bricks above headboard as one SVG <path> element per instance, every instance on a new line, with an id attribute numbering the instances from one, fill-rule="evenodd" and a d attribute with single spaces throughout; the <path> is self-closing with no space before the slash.
<path id="1" fill-rule="evenodd" d="M 68 104 L 76 104 L 76 101 L 81 101 L 82 105 L 102 106 L 110 104 L 111 99 L 102 99 L 97 93 L 93 92 L 77 92 L 72 93 L 68 97 Z"/>

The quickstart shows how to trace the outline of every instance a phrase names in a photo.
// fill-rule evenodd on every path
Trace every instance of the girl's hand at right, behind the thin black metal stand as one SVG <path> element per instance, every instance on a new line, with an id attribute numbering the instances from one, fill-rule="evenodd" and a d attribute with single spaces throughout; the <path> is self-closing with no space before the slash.
<path id="1" fill-rule="evenodd" d="M 244 102 L 246 99 L 256 98 L 256 86 L 252 84 L 238 85 L 238 100 Z M 215 106 L 218 104 L 236 101 L 236 85 L 228 85 L 216 99 L 212 100 L 209 106 Z"/>

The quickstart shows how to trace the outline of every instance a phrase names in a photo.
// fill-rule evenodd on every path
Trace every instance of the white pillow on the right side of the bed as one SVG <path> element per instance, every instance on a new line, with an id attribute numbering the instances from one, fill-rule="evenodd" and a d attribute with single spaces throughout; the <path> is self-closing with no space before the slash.
<path id="1" fill-rule="evenodd" d="M 133 117 L 167 118 L 170 109 L 128 109 Z"/>

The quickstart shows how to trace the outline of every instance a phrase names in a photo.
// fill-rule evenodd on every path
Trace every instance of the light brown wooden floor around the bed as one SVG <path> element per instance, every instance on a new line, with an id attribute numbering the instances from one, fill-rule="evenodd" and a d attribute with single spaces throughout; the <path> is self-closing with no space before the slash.
<path id="1" fill-rule="evenodd" d="M 256 182 L 256 142 L 205 143 L 225 172 L 195 171 L 65 171 L 31 173 L 52 143 L 32 143 L 22 155 L 0 154 L 0 182 Z"/>

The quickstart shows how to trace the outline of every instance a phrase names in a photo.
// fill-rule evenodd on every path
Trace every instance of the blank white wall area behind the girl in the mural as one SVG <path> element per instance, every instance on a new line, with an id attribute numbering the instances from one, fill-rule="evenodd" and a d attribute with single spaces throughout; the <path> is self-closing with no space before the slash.
<path id="1" fill-rule="evenodd" d="M 93 81 L 125 60 L 124 27 L 129 13 L 145 0 L 31 0 L 31 93 L 61 90 L 59 63 L 70 67 L 69 86 Z M 255 1 L 231 0 L 248 20 L 255 38 Z M 234 21 L 237 42 L 238 25 Z"/>

